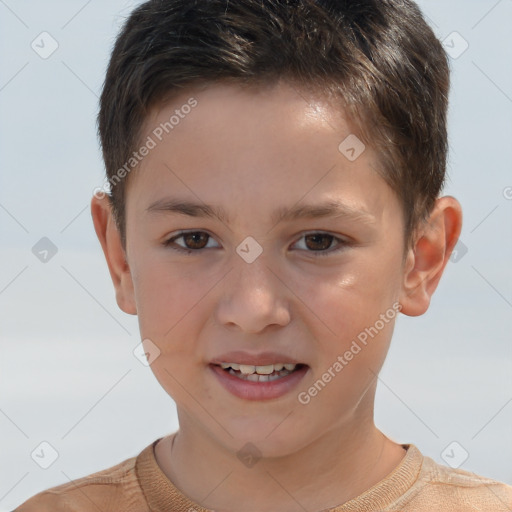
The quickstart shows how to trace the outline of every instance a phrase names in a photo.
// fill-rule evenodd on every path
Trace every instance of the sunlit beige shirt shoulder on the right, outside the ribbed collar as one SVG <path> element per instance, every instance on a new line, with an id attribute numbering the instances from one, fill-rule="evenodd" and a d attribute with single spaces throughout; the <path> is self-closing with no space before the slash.
<path id="1" fill-rule="evenodd" d="M 425 501 L 430 507 L 437 505 L 439 509 L 453 512 L 512 510 L 512 486 L 438 464 L 430 457 L 423 458 L 418 479 L 408 494 L 407 501 L 413 508 Z"/>

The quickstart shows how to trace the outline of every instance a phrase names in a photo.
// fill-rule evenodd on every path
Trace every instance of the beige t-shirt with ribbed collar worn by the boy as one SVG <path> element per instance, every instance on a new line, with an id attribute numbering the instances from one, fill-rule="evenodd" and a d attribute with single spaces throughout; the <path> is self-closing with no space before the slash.
<path id="1" fill-rule="evenodd" d="M 136 457 L 36 494 L 14 512 L 209 512 L 180 492 L 155 459 L 157 439 Z M 413 444 L 383 480 L 326 512 L 510 512 L 512 486 L 451 469 Z"/>

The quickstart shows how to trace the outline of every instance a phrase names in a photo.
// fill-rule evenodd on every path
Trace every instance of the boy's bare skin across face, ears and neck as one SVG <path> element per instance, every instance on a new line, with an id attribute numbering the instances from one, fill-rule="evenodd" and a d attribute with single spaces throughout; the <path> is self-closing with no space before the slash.
<path id="1" fill-rule="evenodd" d="M 151 369 L 176 402 L 180 430 L 172 450 L 169 437 L 158 443 L 157 462 L 184 494 L 218 512 L 334 507 L 405 455 L 373 421 L 395 320 L 307 405 L 297 395 L 394 303 L 409 316 L 428 309 L 460 234 L 460 204 L 439 198 L 403 258 L 401 205 L 370 147 L 353 162 L 338 151 L 352 133 L 339 108 L 285 83 L 210 85 L 153 110 L 141 140 L 191 96 L 197 107 L 129 177 L 126 251 L 107 198 L 91 202 L 118 305 L 138 315 L 141 339 L 160 350 Z M 147 211 L 166 196 L 221 205 L 230 222 Z M 327 199 L 367 220 L 271 218 L 277 207 Z M 181 230 L 210 237 L 176 239 L 190 254 L 163 245 Z M 318 232 L 327 238 L 306 237 Z M 250 264 L 236 252 L 248 236 L 263 249 Z M 309 369 L 283 397 L 244 400 L 208 368 L 237 349 L 278 351 Z M 261 454 L 252 467 L 237 457 L 248 442 Z"/>

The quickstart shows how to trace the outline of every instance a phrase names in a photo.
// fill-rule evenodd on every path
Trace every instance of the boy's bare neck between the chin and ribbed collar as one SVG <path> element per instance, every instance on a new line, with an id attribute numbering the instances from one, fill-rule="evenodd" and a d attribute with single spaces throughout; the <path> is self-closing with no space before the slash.
<path id="1" fill-rule="evenodd" d="M 405 455 L 371 421 L 333 429 L 287 456 L 244 466 L 236 452 L 196 435 L 181 418 L 180 425 L 174 437 L 158 443 L 157 462 L 183 494 L 217 512 L 333 508 L 385 478 Z"/>

